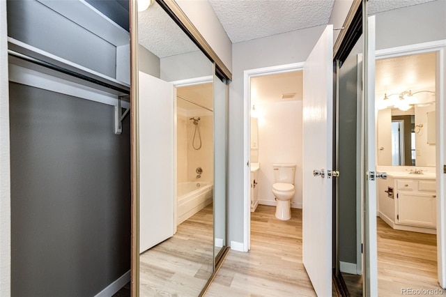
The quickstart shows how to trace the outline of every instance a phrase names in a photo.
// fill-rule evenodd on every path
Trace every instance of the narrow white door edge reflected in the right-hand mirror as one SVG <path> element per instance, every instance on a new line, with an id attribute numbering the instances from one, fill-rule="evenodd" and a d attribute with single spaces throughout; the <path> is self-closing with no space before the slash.
<path id="1" fill-rule="evenodd" d="M 378 296 L 376 250 L 376 131 L 375 131 L 375 16 L 368 18 L 367 54 L 364 54 L 364 288 Z M 374 172 L 371 176 L 370 172 Z"/>

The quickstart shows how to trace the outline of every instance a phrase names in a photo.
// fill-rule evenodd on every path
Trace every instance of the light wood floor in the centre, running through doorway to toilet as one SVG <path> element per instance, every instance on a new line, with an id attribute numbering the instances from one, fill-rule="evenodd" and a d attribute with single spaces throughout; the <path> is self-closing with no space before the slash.
<path id="1" fill-rule="evenodd" d="M 251 250 L 231 250 L 205 296 L 316 296 L 302 264 L 302 210 L 275 218 L 275 207 L 251 213 Z"/>

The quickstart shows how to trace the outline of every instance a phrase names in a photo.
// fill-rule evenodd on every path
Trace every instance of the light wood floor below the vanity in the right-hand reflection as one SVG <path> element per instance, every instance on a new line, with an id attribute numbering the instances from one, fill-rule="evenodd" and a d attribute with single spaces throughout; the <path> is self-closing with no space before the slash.
<path id="1" fill-rule="evenodd" d="M 403 288 L 440 289 L 436 235 L 395 230 L 376 220 L 379 296 L 401 296 Z"/>

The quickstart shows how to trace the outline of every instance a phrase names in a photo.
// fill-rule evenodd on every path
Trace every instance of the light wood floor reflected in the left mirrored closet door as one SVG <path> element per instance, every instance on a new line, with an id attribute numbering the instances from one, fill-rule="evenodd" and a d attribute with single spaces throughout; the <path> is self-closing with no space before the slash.
<path id="1" fill-rule="evenodd" d="M 140 296 L 199 296 L 213 273 L 213 206 L 139 257 Z"/>

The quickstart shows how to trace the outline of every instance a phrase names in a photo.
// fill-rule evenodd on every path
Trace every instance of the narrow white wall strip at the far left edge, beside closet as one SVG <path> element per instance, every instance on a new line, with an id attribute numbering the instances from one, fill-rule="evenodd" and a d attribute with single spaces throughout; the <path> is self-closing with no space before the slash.
<path id="1" fill-rule="evenodd" d="M 10 296 L 10 153 L 6 1 L 0 1 L 0 295 Z"/>

